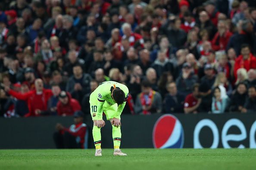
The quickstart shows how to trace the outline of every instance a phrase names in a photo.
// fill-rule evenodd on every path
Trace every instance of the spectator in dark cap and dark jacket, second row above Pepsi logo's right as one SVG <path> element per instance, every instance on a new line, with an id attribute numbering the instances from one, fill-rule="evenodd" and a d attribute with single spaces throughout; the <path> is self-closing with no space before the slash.
<path id="1" fill-rule="evenodd" d="M 185 96 L 192 92 L 193 85 L 198 79 L 193 70 L 190 63 L 184 63 L 182 65 L 182 72 L 176 79 L 178 91 Z"/>

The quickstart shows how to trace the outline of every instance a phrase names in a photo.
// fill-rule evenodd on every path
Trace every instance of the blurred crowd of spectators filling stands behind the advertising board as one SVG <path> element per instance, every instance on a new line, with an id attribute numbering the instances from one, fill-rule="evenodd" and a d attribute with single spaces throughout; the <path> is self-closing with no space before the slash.
<path id="1" fill-rule="evenodd" d="M 0 116 L 256 111 L 255 0 L 1 0 Z"/>

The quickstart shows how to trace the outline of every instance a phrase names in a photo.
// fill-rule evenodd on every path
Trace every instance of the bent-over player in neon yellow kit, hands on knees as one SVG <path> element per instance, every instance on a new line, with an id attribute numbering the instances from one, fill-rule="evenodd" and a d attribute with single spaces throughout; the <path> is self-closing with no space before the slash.
<path id="1" fill-rule="evenodd" d="M 95 156 L 101 156 L 100 129 L 104 127 L 103 112 L 112 124 L 112 137 L 114 141 L 114 155 L 125 156 L 119 149 L 121 143 L 120 115 L 128 98 L 128 88 L 118 82 L 103 82 L 90 95 L 91 116 L 94 121 L 93 137 L 96 148 Z"/>

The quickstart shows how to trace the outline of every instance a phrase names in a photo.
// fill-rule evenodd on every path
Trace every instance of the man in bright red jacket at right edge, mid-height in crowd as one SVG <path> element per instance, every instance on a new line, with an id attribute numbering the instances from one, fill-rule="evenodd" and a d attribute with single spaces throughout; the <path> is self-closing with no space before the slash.
<path id="1" fill-rule="evenodd" d="M 241 46 L 241 55 L 239 55 L 234 64 L 234 76 L 237 79 L 237 70 L 245 68 L 247 71 L 250 69 L 256 69 L 256 58 L 250 53 L 250 47 L 248 44 Z"/>

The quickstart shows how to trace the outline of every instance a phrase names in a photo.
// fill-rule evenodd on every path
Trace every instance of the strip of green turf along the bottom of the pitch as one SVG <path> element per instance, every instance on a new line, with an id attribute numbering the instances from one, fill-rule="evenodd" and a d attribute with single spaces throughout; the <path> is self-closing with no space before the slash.
<path id="1" fill-rule="evenodd" d="M 256 149 L 0 150 L 0 170 L 256 170 Z"/>

